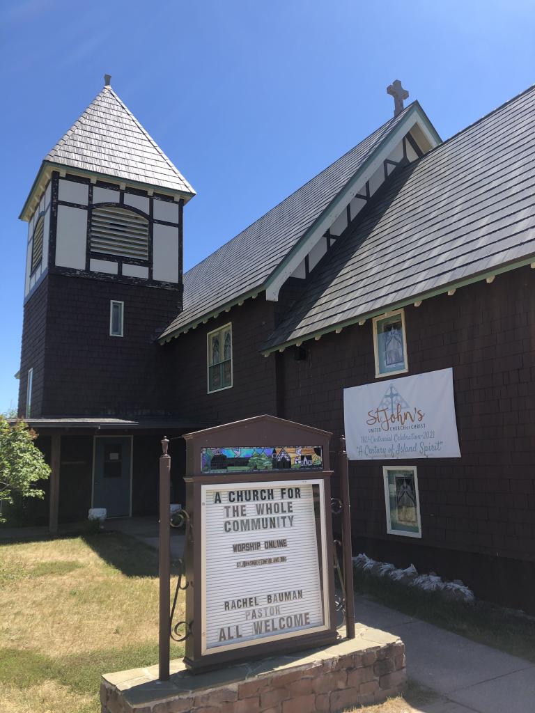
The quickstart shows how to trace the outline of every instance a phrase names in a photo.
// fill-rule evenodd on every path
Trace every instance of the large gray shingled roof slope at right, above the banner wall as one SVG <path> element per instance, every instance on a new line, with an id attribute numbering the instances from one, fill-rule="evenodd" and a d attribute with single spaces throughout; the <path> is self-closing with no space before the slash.
<path id="1" fill-rule="evenodd" d="M 392 175 L 265 350 L 535 254 L 535 87 Z"/>

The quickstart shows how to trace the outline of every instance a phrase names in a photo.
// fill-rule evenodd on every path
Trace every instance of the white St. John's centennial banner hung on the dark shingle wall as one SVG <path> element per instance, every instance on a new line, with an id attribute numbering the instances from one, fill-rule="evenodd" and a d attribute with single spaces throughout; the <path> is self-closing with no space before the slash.
<path id="1" fill-rule="evenodd" d="M 353 461 L 461 456 L 452 369 L 344 389 L 344 420 Z"/>

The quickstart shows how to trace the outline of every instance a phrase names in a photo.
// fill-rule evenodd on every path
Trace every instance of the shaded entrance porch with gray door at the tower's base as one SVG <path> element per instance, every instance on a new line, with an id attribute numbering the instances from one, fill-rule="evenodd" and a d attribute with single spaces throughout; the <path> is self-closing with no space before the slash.
<path id="1" fill-rule="evenodd" d="M 185 446 L 182 434 L 208 424 L 178 419 L 28 419 L 36 446 L 51 466 L 45 500 L 31 503 L 34 522 L 48 525 L 85 520 L 90 508 L 107 518 L 156 515 L 161 438 L 173 453 L 171 502 L 184 503 Z"/>

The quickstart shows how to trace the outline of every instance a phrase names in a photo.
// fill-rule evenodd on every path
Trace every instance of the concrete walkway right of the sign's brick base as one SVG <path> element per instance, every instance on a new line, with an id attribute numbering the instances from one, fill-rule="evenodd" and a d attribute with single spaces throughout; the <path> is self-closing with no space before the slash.
<path id="1" fill-rule="evenodd" d="M 355 597 L 362 625 L 397 634 L 407 674 L 440 700 L 425 713 L 535 713 L 535 665 L 457 634 Z M 535 642 L 534 642 L 535 646 Z"/>

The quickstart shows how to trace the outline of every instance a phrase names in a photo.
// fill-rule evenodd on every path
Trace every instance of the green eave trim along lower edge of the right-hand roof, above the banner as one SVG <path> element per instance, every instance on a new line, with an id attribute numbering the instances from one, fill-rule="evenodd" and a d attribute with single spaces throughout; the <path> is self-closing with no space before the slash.
<path id="1" fill-rule="evenodd" d="M 300 337 L 294 337 L 287 342 L 280 342 L 278 344 L 273 344 L 267 349 L 260 349 L 260 352 L 264 356 L 269 356 L 274 352 L 283 352 L 287 347 L 295 347 L 297 344 L 302 342 L 308 342 L 310 339 L 319 339 L 324 334 L 330 334 L 341 331 L 345 327 L 352 327 L 353 324 L 358 324 L 359 322 L 366 322 L 367 319 L 373 319 L 373 317 L 379 317 L 381 314 L 386 312 L 393 312 L 395 309 L 402 309 L 402 307 L 409 307 L 410 304 L 414 302 L 421 302 L 424 299 L 431 299 L 432 297 L 439 297 L 441 294 L 447 294 L 450 290 L 460 289 L 461 287 L 468 287 L 470 284 L 475 282 L 482 282 L 484 279 L 493 278 L 496 275 L 503 275 L 505 272 L 511 272 L 512 270 L 518 270 L 520 267 L 531 267 L 535 268 L 535 253 L 531 254 L 529 257 L 524 257 L 522 260 L 516 260 L 508 265 L 501 265 L 499 267 L 494 267 L 492 270 L 485 270 L 484 272 L 479 272 L 472 277 L 467 277 L 466 279 L 454 280 L 453 282 L 448 282 L 446 284 L 437 287 L 437 289 L 429 290 L 428 292 L 419 292 L 412 294 L 407 299 L 402 299 L 399 302 L 392 302 L 391 304 L 384 304 L 382 307 L 372 310 L 372 312 L 364 312 L 363 314 L 358 314 L 356 317 L 350 317 L 350 319 L 345 319 L 342 322 L 335 322 L 330 324 L 329 327 L 323 327 L 323 329 L 317 329 L 312 332 L 307 332 L 306 334 L 300 335 Z M 489 280 L 490 281 L 490 280 Z"/>

